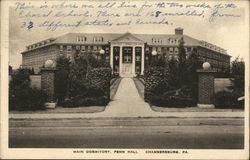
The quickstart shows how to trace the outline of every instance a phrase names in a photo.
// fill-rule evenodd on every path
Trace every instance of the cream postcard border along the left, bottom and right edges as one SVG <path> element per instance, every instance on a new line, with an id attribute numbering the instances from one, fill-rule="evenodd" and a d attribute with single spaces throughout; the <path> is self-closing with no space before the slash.
<path id="1" fill-rule="evenodd" d="M 12 3 L 12 2 L 11 2 Z M 245 149 L 244 150 L 187 150 L 189 154 L 144 154 L 146 149 L 132 149 L 140 154 L 73 154 L 86 149 L 9 149 L 8 148 L 8 59 L 9 59 L 9 1 L 1 2 L 1 158 L 11 159 L 247 159 L 249 155 L 249 55 L 245 76 Z M 245 13 L 249 19 L 249 10 Z M 248 28 L 249 29 L 249 28 Z M 249 35 L 248 35 L 249 41 Z M 91 148 L 93 149 L 93 148 Z M 102 149 L 98 149 L 102 150 Z M 113 149 L 109 149 L 113 151 Z M 119 149 L 123 150 L 123 149 Z M 128 150 L 128 149 L 124 149 Z M 150 149 L 152 150 L 152 149 Z M 159 149 L 160 150 L 160 149 Z M 176 150 L 176 149 L 166 149 Z"/>

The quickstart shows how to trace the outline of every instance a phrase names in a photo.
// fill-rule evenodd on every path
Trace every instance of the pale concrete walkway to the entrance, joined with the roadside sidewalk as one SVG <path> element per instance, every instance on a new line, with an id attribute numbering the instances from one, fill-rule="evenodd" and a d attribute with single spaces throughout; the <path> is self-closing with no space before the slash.
<path id="1" fill-rule="evenodd" d="M 10 114 L 11 119 L 124 118 L 124 117 L 220 117 L 243 118 L 244 112 L 155 112 L 139 96 L 132 78 L 123 78 L 114 99 L 99 113 Z"/>

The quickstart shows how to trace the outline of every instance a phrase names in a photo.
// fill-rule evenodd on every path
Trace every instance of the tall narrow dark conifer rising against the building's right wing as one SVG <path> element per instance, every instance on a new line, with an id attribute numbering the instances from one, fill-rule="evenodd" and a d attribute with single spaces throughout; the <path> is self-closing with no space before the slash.
<path id="1" fill-rule="evenodd" d="M 180 40 L 178 50 L 179 50 L 179 55 L 178 55 L 179 80 L 181 84 L 185 84 L 186 83 L 186 50 L 184 48 L 183 37 Z"/>

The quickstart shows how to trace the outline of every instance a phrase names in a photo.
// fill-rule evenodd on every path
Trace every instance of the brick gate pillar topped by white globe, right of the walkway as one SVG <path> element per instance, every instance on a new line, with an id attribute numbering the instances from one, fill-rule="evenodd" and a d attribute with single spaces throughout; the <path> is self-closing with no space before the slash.
<path id="1" fill-rule="evenodd" d="M 198 72 L 198 104 L 200 108 L 214 108 L 214 73 L 210 64 L 205 62 Z"/>

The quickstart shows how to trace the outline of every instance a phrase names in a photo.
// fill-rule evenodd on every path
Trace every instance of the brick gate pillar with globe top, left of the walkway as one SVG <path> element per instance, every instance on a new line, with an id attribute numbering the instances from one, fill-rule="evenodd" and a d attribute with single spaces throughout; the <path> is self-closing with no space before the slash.
<path id="1" fill-rule="evenodd" d="M 52 63 L 52 64 L 46 64 Z M 45 67 L 41 68 L 41 89 L 48 95 L 46 108 L 55 108 L 55 73 L 56 68 L 53 62 L 45 62 Z"/>

